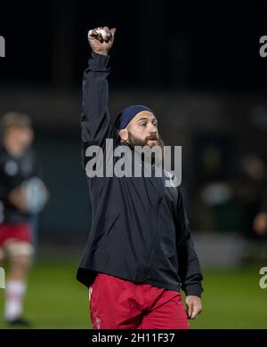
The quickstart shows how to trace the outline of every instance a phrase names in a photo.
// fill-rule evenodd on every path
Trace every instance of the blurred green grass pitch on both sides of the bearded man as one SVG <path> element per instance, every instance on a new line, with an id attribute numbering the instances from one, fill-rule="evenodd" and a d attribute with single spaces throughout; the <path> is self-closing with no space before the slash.
<path id="1" fill-rule="evenodd" d="M 77 260 L 39 261 L 31 270 L 25 317 L 33 328 L 91 328 L 87 291 L 75 279 Z M 203 312 L 191 328 L 267 328 L 267 289 L 259 287 L 259 268 L 203 269 Z M 3 312 L 4 290 L 0 289 Z M 0 328 L 6 328 L 2 319 Z"/>

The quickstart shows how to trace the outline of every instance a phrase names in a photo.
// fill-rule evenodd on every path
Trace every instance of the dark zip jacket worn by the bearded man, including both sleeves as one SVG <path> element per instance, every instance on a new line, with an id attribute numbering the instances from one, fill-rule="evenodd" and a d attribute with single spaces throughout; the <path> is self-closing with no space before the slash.
<path id="1" fill-rule="evenodd" d="M 118 145 L 109 117 L 109 56 L 92 53 L 83 82 L 82 160 L 88 146 Z M 128 146 L 127 144 L 124 144 Z M 115 147 L 114 146 L 114 147 Z M 132 149 L 131 146 L 129 146 Z M 133 150 L 133 149 L 132 149 Z M 87 177 L 92 225 L 77 279 L 90 286 L 98 272 L 166 290 L 201 295 L 202 275 L 177 187 L 163 178 Z"/>

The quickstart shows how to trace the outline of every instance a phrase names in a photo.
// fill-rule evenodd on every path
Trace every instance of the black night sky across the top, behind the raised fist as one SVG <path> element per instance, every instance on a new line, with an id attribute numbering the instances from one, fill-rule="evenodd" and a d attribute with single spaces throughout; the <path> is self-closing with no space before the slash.
<path id="1" fill-rule="evenodd" d="M 0 86 L 80 85 L 87 30 L 107 24 L 117 28 L 117 87 L 265 90 L 259 38 L 267 35 L 266 10 L 252 2 L 4 2 Z"/>

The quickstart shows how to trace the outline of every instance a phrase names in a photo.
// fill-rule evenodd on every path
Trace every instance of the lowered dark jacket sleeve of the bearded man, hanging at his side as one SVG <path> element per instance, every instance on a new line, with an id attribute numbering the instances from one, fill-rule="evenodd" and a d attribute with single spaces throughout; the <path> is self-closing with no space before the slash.
<path id="1" fill-rule="evenodd" d="M 203 288 L 198 255 L 196 253 L 190 233 L 189 221 L 182 202 L 182 193 L 178 190 L 178 215 L 180 222 L 180 237 L 177 240 L 177 254 L 179 262 L 179 277 L 185 295 L 201 296 Z"/>

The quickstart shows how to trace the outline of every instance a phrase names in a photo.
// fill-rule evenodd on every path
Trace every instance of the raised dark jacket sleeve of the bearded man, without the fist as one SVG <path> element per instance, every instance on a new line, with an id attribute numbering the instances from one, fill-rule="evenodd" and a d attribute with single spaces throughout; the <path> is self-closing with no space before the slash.
<path id="1" fill-rule="evenodd" d="M 109 116 L 109 56 L 92 52 L 83 79 L 83 109 L 81 117 L 82 165 L 85 167 L 85 150 L 90 145 L 103 148 L 105 140 L 112 138 Z"/>

